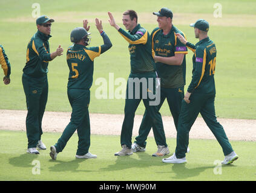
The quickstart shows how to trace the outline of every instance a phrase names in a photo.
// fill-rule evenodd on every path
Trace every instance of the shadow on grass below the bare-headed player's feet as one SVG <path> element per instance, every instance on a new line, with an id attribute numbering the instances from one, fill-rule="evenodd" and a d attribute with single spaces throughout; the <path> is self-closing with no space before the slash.
<path id="1" fill-rule="evenodd" d="M 137 159 L 137 156 L 139 159 Z M 162 157 L 152 157 L 148 153 L 138 152 L 133 153 L 131 156 L 116 156 L 116 163 L 108 165 L 106 168 L 100 168 L 99 171 L 117 171 L 129 168 L 148 168 L 149 166 L 159 166 Z"/>

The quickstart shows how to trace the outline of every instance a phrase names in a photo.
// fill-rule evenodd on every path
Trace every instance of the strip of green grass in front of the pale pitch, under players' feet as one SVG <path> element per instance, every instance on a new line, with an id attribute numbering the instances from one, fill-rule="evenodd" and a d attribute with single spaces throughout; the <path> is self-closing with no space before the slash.
<path id="1" fill-rule="evenodd" d="M 220 166 L 224 159 L 215 140 L 190 140 L 191 152 L 188 163 L 173 165 L 163 163 L 163 157 L 152 157 L 156 145 L 148 139 L 145 152 L 131 156 L 114 156 L 120 150 L 119 136 L 91 136 L 90 152 L 97 159 L 76 159 L 77 134 L 68 141 L 57 160 L 49 156 L 50 145 L 54 145 L 61 133 L 44 133 L 47 150 L 39 155 L 26 154 L 24 131 L 0 131 L 0 180 L 87 180 L 87 181 L 255 181 L 256 142 L 231 141 L 240 158 L 232 165 Z M 172 154 L 175 139 L 167 139 Z M 165 156 L 168 157 L 168 156 Z M 38 166 L 39 169 L 34 167 Z"/>

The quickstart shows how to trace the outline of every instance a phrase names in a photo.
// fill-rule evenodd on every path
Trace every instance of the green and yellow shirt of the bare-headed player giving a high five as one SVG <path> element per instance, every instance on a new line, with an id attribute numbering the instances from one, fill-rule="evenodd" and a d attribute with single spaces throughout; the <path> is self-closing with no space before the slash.
<path id="1" fill-rule="evenodd" d="M 140 24 L 133 31 L 126 32 L 120 28 L 119 33 L 129 42 L 129 51 L 131 59 L 131 72 L 154 72 L 156 66 L 152 56 L 151 39 L 148 31 L 140 27 Z"/>

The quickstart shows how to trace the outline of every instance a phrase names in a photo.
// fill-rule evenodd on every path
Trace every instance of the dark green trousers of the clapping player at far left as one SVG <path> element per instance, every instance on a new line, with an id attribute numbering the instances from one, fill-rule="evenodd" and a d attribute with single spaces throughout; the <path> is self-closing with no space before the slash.
<path id="1" fill-rule="evenodd" d="M 47 74 L 34 78 L 23 73 L 22 84 L 26 96 L 27 117 L 26 131 L 28 148 L 35 148 L 42 135 L 42 118 L 48 98 Z"/>

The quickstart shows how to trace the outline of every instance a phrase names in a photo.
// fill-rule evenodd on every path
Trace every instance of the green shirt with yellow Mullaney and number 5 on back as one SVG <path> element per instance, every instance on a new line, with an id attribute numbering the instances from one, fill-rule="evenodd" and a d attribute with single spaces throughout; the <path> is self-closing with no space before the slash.
<path id="1" fill-rule="evenodd" d="M 93 84 L 94 59 L 100 55 L 101 46 L 87 48 L 74 44 L 67 50 L 70 69 L 68 89 L 90 89 Z"/>

